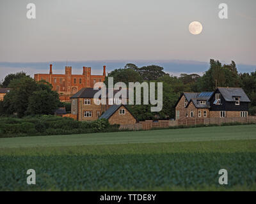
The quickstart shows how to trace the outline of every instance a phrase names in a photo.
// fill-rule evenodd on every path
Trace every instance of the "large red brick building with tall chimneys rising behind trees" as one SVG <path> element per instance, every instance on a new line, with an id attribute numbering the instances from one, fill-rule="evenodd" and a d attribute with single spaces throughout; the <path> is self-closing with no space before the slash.
<path id="1" fill-rule="evenodd" d="M 72 67 L 65 67 L 65 75 L 52 73 L 50 64 L 49 74 L 35 74 L 36 82 L 45 80 L 52 85 L 52 90 L 60 94 L 61 101 L 70 101 L 70 96 L 84 87 L 93 87 L 97 82 L 104 82 L 106 77 L 106 66 L 103 66 L 103 75 L 92 75 L 90 67 L 83 67 L 83 75 L 72 75 Z"/>

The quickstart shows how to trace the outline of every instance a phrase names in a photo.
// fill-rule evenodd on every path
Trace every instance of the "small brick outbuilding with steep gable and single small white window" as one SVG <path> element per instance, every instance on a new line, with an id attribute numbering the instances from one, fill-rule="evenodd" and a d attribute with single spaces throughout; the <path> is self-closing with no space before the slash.
<path id="1" fill-rule="evenodd" d="M 136 124 L 137 119 L 125 105 L 112 105 L 99 119 L 108 119 L 109 124 Z"/>

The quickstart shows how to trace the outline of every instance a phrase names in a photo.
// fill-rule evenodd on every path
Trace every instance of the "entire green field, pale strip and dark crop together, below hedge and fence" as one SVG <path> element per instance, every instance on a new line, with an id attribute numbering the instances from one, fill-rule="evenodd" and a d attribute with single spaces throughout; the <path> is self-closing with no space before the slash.
<path id="1" fill-rule="evenodd" d="M 0 138 L 0 161 L 1 191 L 255 191 L 256 125 Z"/>

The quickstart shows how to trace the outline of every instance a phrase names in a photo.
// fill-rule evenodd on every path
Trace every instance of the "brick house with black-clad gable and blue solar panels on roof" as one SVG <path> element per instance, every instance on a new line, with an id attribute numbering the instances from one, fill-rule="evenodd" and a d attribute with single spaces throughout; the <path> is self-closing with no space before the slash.
<path id="1" fill-rule="evenodd" d="M 185 117 L 247 117 L 250 99 L 239 87 L 214 92 L 184 92 L 175 105 L 175 119 Z"/>

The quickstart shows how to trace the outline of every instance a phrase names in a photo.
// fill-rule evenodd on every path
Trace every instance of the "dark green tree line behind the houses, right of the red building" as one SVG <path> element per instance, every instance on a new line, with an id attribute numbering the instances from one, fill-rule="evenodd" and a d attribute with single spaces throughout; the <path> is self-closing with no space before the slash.
<path id="1" fill-rule="evenodd" d="M 183 92 L 214 91 L 218 87 L 242 87 L 252 103 L 250 114 L 256 114 L 256 71 L 252 73 L 238 73 L 236 63 L 221 64 L 211 59 L 210 67 L 202 77 L 198 74 L 183 73 L 180 77 L 169 75 L 157 65 L 138 68 L 135 64 L 126 64 L 108 74 L 116 82 L 163 82 L 163 110 L 150 112 L 150 105 L 129 105 L 129 110 L 139 119 L 174 119 L 175 103 Z M 108 78 L 104 81 L 108 85 Z M 143 91 L 143 90 L 141 90 Z M 141 94 L 142 95 L 142 94 Z"/>

